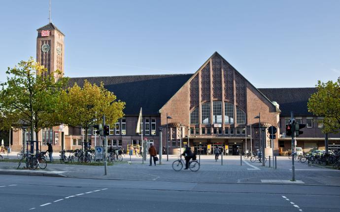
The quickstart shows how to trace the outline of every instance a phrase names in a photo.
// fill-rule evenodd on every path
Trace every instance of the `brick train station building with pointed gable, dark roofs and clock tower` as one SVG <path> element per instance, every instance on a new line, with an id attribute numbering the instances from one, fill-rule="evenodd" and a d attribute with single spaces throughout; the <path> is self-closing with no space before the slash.
<path id="1" fill-rule="evenodd" d="M 49 72 L 64 72 L 65 35 L 52 23 L 37 32 L 37 61 Z M 169 151 L 175 154 L 180 146 L 189 144 L 202 154 L 219 146 L 229 155 L 239 155 L 246 150 L 257 152 L 261 142 L 266 155 L 272 155 L 272 147 L 275 155 L 284 154 L 291 148 L 291 138 L 285 136 L 291 111 L 299 123 L 307 124 L 297 146 L 305 152 L 325 147 L 322 117 L 307 110 L 315 88 L 256 88 L 217 52 L 202 63 L 197 71 L 187 70 L 190 74 L 73 77 L 69 85 L 82 86 L 85 79 L 97 85 L 103 82 L 126 103 L 125 117 L 110 126 L 109 146 L 141 146 L 136 125 L 142 108 L 143 139 L 158 149 L 162 127 L 163 146 L 168 142 Z M 268 133 L 271 126 L 277 128 L 273 143 Z M 20 150 L 28 132 L 14 129 L 11 133 L 12 149 Z M 85 133 L 89 141 L 84 141 Z M 94 129 L 84 132 L 64 125 L 42 129 L 38 138 L 43 149 L 51 142 L 56 150 L 61 148 L 62 139 L 66 149 L 81 148 L 84 142 L 91 147 L 102 143 Z M 329 134 L 329 144 L 330 149 L 340 149 L 340 134 Z"/>

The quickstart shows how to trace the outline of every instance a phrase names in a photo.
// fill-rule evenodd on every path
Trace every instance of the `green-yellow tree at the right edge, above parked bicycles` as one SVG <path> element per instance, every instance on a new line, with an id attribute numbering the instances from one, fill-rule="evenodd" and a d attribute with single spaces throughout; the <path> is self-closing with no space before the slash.
<path id="1" fill-rule="evenodd" d="M 318 81 L 317 92 L 308 100 L 308 111 L 323 116 L 323 133 L 337 133 L 340 130 L 340 77 L 336 82 Z"/>

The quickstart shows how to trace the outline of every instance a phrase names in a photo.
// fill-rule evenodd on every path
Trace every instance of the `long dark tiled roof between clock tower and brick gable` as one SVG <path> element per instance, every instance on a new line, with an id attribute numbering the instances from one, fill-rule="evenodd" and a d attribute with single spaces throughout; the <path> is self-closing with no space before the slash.
<path id="1" fill-rule="evenodd" d="M 185 84 L 192 74 L 96 76 L 70 78 L 69 86 L 75 82 L 83 86 L 84 80 L 112 91 L 117 100 L 126 103 L 126 115 L 138 115 L 142 107 L 143 115 L 159 114 L 158 110 Z"/>

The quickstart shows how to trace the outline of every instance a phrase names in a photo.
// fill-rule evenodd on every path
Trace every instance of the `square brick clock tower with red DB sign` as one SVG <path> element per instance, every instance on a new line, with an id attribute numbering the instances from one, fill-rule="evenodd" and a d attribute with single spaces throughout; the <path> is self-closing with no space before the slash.
<path id="1" fill-rule="evenodd" d="M 61 71 L 64 74 L 64 37 L 65 35 L 51 22 L 37 29 L 36 61 L 47 69 L 47 73 Z M 57 79 L 61 77 L 54 74 Z"/>

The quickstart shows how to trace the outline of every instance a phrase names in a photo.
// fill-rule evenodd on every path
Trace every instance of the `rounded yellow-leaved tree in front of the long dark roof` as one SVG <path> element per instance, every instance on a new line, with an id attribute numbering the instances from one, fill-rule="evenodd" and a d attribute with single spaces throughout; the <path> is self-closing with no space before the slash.
<path id="1" fill-rule="evenodd" d="M 85 141 L 87 142 L 87 132 L 95 123 L 102 122 L 105 115 L 105 122 L 111 126 L 124 116 L 123 109 L 125 103 L 110 91 L 100 86 L 91 84 L 87 80 L 81 88 L 76 83 L 73 87 L 62 92 L 62 108 L 59 114 L 64 120 L 64 124 L 85 129 Z"/>

